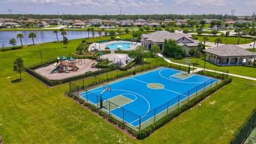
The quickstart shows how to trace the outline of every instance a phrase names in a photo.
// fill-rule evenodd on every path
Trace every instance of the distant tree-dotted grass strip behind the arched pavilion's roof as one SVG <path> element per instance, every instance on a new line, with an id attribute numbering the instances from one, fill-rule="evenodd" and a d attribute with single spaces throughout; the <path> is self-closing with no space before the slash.
<path id="1" fill-rule="evenodd" d="M 209 40 L 208 41 L 206 41 L 206 42 L 213 42 L 214 43 L 214 40 L 216 39 L 216 38 L 218 38 L 219 36 L 208 36 L 208 38 L 209 38 Z M 220 37 L 221 38 L 221 37 Z M 203 41 L 203 36 L 198 36 L 198 40 L 200 41 L 200 42 L 204 42 Z M 238 41 L 238 37 L 223 37 L 223 39 L 222 39 L 222 44 L 237 44 L 237 41 Z M 241 37 L 240 38 L 240 42 L 239 42 L 239 44 L 249 44 L 249 43 L 251 43 L 252 41 L 251 41 L 251 38 L 247 38 L 247 41 L 246 41 L 246 43 L 245 43 L 245 38 L 244 37 Z"/>

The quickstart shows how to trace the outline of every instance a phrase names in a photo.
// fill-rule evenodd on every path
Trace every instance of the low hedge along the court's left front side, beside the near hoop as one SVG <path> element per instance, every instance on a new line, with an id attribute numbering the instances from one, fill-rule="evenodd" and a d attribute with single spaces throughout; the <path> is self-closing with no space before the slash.
<path id="1" fill-rule="evenodd" d="M 89 103 L 85 102 L 84 100 L 78 98 L 76 95 L 74 95 L 73 93 L 68 92 L 67 93 L 68 96 L 70 98 L 73 98 L 74 100 L 77 100 L 81 105 L 84 105 L 87 108 L 90 108 L 92 111 L 96 112 L 99 114 L 99 116 L 101 116 L 103 119 L 106 119 L 107 121 L 109 121 L 110 123 L 113 123 L 115 125 L 118 125 L 119 127 L 121 127 L 124 130 L 127 130 L 128 132 L 130 132 L 133 136 L 136 135 L 136 132 L 134 130 L 132 130 L 130 127 L 127 127 L 126 125 L 124 125 L 123 123 L 117 121 L 115 118 L 113 118 L 110 115 L 107 115 L 106 113 L 103 113 L 101 110 L 93 107 L 92 105 L 90 105 Z"/>

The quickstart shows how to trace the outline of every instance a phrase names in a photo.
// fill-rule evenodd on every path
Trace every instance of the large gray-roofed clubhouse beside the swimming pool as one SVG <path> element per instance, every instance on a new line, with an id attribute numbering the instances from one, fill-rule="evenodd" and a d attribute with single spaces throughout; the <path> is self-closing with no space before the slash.
<path id="1" fill-rule="evenodd" d="M 187 55 L 189 54 L 189 50 L 192 47 L 197 47 L 199 43 L 198 40 L 192 39 L 190 34 L 170 33 L 166 30 L 160 30 L 150 34 L 142 34 L 141 46 L 150 50 L 152 45 L 158 45 L 163 50 L 165 39 L 174 39 L 177 44 L 182 46 L 182 49 L 186 51 Z"/>

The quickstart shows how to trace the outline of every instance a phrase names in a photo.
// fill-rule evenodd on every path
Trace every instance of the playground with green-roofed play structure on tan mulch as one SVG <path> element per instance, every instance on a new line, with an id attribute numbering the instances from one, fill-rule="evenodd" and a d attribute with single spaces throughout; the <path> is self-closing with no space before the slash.
<path id="1" fill-rule="evenodd" d="M 95 64 L 97 64 L 96 60 L 74 59 L 62 56 L 57 58 L 57 62 L 35 69 L 35 71 L 48 79 L 58 80 L 97 71 L 98 68 L 93 68 Z"/>

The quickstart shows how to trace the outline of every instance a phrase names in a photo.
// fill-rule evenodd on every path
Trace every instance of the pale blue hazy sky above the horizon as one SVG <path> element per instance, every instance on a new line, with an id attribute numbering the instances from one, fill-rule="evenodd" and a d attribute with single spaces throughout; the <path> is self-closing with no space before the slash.
<path id="1" fill-rule="evenodd" d="M 0 0 L 0 13 L 32 14 L 231 14 L 251 15 L 256 0 Z"/>

